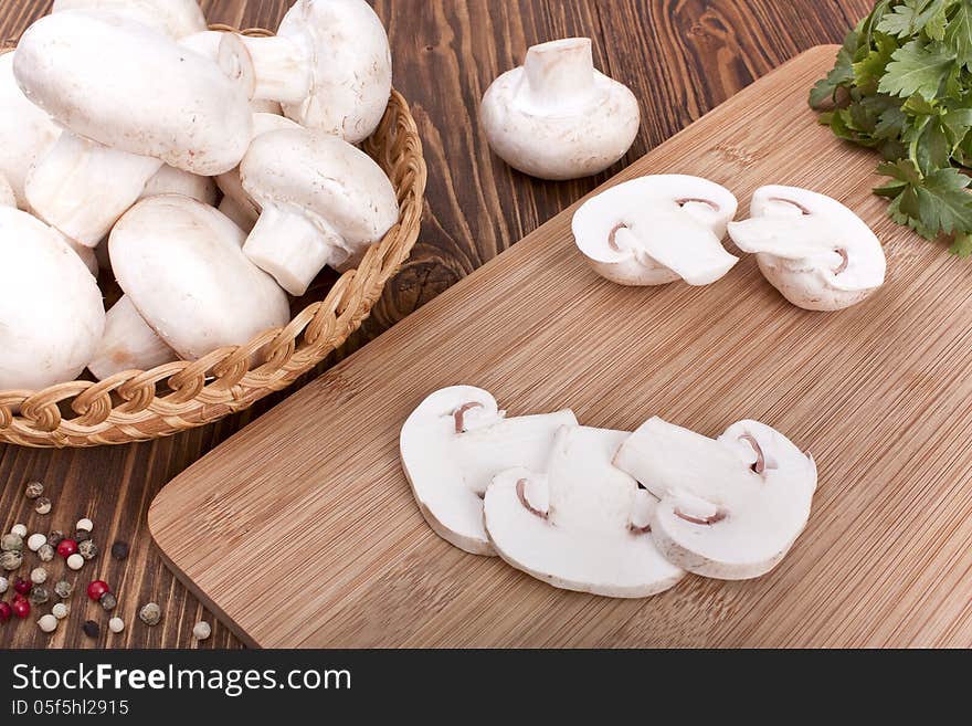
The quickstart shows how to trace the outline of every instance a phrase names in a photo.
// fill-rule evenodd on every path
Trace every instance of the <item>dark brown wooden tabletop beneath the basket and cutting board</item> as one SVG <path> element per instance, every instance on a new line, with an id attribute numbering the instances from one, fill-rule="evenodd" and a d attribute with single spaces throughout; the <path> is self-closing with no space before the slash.
<path id="1" fill-rule="evenodd" d="M 274 29 L 290 3 L 202 0 L 201 4 L 210 22 Z M 0 42 L 15 43 L 50 6 L 51 0 L 0 0 Z M 624 160 L 628 162 L 800 51 L 841 41 L 870 2 L 378 0 L 374 6 L 391 39 L 394 84 L 410 101 L 425 144 L 429 189 L 412 259 L 341 355 L 376 337 L 616 171 L 575 182 L 540 182 L 511 171 L 490 155 L 476 123 L 479 98 L 494 77 L 521 62 L 527 46 L 571 35 L 593 39 L 598 66 L 627 84 L 642 103 L 641 134 Z M 131 548 L 124 562 L 99 556 L 81 574 L 72 574 L 78 589 L 94 576 L 113 586 L 119 601 L 116 613 L 127 625 L 124 633 L 113 635 L 103 628 L 99 639 L 86 638 L 81 625 L 87 618 L 102 623 L 107 618 L 83 592 L 75 592 L 70 620 L 53 636 L 36 628 L 32 613 L 28 621 L 0 623 L 0 648 L 239 648 L 239 641 L 165 568 L 148 534 L 146 513 L 170 478 L 285 394 L 214 425 L 151 443 L 77 451 L 0 446 L 2 532 L 17 522 L 31 532 L 67 529 L 88 516 L 103 549 L 117 539 Z M 24 484 L 33 478 L 44 483 L 54 503 L 46 516 L 34 513 L 33 502 L 23 496 Z M 211 546 L 223 545 L 215 539 Z M 234 554 L 226 550 L 224 556 Z M 60 574 L 63 565 L 53 565 L 52 571 Z M 21 569 L 25 576 L 28 567 Z M 136 615 L 149 600 L 162 607 L 162 621 L 156 628 L 141 624 Z M 200 619 L 213 625 L 212 638 L 201 644 L 191 636 Z"/>

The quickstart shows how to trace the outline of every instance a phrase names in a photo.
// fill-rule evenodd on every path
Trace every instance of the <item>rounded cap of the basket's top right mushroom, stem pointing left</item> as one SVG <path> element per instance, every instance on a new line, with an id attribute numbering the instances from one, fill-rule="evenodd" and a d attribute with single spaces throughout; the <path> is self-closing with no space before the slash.
<path id="1" fill-rule="evenodd" d="M 284 113 L 307 128 L 358 144 L 378 127 L 391 96 L 391 50 L 364 0 L 297 0 L 277 29 L 311 60 L 310 95 Z"/>

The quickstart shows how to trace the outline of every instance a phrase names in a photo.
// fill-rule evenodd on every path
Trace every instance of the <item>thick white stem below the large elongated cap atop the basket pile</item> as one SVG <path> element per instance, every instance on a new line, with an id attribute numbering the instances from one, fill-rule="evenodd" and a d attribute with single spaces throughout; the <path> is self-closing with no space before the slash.
<path id="1" fill-rule="evenodd" d="M 31 169 L 25 196 L 38 217 L 78 244 L 94 248 L 161 166 L 158 159 L 64 131 Z"/>

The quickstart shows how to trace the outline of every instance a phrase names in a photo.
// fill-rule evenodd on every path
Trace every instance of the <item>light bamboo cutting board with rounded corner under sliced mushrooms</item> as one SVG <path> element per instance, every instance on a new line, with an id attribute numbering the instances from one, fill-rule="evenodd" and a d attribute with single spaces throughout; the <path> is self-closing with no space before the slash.
<path id="1" fill-rule="evenodd" d="M 885 241 L 888 281 L 841 313 L 788 304 L 744 257 L 719 282 L 624 288 L 575 251 L 572 210 L 463 280 L 177 477 L 149 525 L 252 645 L 972 645 L 972 266 L 895 227 L 877 159 L 806 107 L 836 48 L 757 82 L 609 183 L 708 177 L 740 199 L 810 187 Z M 770 575 L 689 576 L 646 600 L 554 590 L 447 545 L 398 434 L 443 386 L 510 415 L 651 415 L 715 435 L 752 418 L 811 451 L 810 525 Z"/>

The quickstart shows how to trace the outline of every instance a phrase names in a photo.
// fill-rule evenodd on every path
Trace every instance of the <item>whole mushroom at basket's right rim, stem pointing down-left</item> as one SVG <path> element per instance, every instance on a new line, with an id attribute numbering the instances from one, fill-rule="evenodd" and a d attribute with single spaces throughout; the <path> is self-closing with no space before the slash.
<path id="1" fill-rule="evenodd" d="M 399 219 L 394 188 L 381 167 L 321 131 L 258 136 L 240 177 L 263 210 L 243 251 L 293 295 L 303 295 L 325 265 L 357 264 Z"/>

